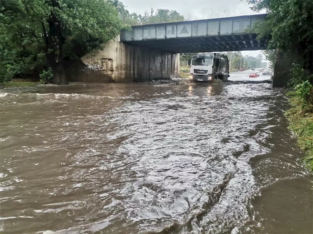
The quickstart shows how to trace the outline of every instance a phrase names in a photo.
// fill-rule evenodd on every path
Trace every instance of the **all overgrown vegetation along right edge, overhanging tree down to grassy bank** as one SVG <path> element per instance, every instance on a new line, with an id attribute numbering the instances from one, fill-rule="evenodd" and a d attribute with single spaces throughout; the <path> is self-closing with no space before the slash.
<path id="1" fill-rule="evenodd" d="M 290 129 L 306 151 L 305 163 L 313 170 L 313 1 L 312 0 L 247 0 L 254 11 L 265 9 L 267 20 L 255 24 L 259 38 L 271 35 L 266 51 L 272 66 L 275 49 L 298 53 L 303 64 L 293 64 L 288 87 L 292 108 L 286 112 Z M 300 62 L 299 62 L 300 63 Z M 300 63 L 301 64 L 301 63 Z M 286 69 L 288 69 L 286 67 Z"/>

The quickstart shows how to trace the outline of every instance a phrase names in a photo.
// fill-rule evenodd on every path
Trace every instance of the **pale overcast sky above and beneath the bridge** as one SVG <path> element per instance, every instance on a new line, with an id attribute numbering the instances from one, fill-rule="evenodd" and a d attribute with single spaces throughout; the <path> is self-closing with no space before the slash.
<path id="1" fill-rule="evenodd" d="M 143 14 L 153 9 L 175 10 L 186 19 L 209 19 L 239 15 L 255 15 L 266 12 L 254 12 L 243 0 L 120 0 L 132 13 Z M 261 51 L 242 51 L 242 54 L 256 57 Z"/>

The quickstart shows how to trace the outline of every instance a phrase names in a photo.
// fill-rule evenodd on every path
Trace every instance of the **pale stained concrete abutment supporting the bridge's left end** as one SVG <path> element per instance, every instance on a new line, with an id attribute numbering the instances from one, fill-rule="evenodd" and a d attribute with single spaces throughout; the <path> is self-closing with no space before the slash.
<path id="1" fill-rule="evenodd" d="M 179 53 L 128 45 L 120 35 L 81 61 L 71 69 L 72 82 L 145 82 L 179 75 Z"/>

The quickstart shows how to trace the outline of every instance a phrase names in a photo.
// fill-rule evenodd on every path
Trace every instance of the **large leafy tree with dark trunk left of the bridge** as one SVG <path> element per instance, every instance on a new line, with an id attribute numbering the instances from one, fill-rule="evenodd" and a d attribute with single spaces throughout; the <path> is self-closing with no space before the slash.
<path id="1" fill-rule="evenodd" d="M 68 83 L 64 57 L 65 52 L 75 56 L 73 43 L 81 41 L 80 51 L 100 48 L 125 27 L 116 7 L 105 0 L 6 0 L 1 1 L 0 19 L 6 41 L 23 41 L 24 51 L 38 46 L 37 54 L 44 53 L 55 84 Z M 10 32 L 11 23 L 21 31 Z M 5 50 L 2 47 L 1 54 Z"/>

